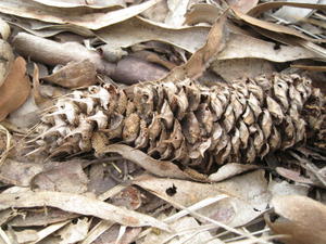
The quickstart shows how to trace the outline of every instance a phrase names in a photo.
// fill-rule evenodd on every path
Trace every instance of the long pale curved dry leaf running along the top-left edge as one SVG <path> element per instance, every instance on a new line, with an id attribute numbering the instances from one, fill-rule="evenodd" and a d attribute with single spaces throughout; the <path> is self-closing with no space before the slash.
<path id="1" fill-rule="evenodd" d="M 159 1 L 161 0 L 146 1 L 140 4 L 118 10 L 116 10 L 116 7 L 113 7 L 111 8 L 113 11 L 103 13 L 102 11 L 96 11 L 96 9 L 89 12 L 89 9 L 87 8 L 59 9 L 58 7 L 45 5 L 42 2 L 23 0 L 12 2 L 10 0 L 3 0 L 0 2 L 0 12 L 25 18 L 35 18 L 42 22 L 57 24 L 68 23 L 88 29 L 100 29 L 136 16 Z"/>

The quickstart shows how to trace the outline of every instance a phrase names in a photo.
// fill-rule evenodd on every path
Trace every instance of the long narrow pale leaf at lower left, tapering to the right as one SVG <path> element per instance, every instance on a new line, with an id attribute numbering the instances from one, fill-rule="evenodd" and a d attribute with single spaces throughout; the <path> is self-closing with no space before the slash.
<path id="1" fill-rule="evenodd" d="M 0 194 L 0 210 L 11 207 L 55 207 L 65 211 L 95 216 L 130 227 L 155 227 L 170 231 L 166 223 L 137 211 L 120 208 L 99 200 L 65 192 L 17 192 Z"/>

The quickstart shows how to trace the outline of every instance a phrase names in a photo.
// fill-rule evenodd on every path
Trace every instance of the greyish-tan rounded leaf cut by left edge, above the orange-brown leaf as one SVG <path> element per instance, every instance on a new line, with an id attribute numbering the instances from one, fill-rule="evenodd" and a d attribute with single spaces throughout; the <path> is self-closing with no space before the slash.
<path id="1" fill-rule="evenodd" d="M 0 87 L 3 85 L 8 77 L 11 66 L 14 61 L 14 54 L 10 44 L 0 39 Z"/>

